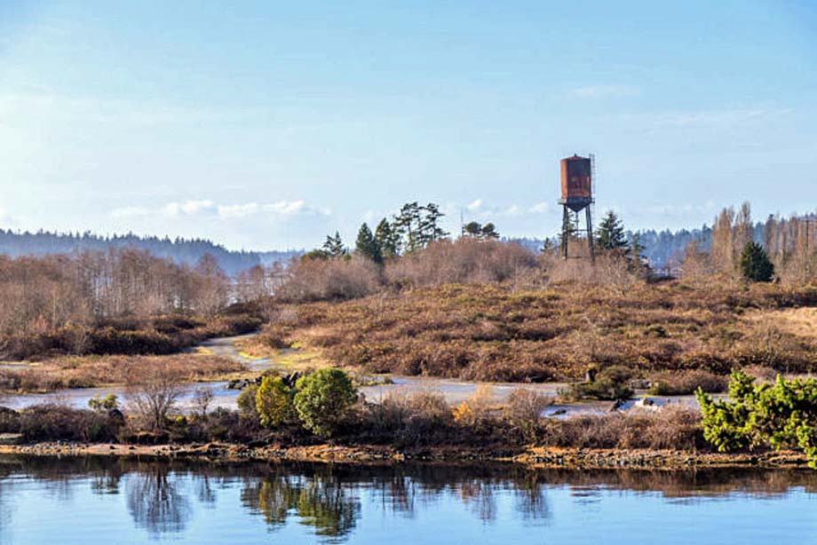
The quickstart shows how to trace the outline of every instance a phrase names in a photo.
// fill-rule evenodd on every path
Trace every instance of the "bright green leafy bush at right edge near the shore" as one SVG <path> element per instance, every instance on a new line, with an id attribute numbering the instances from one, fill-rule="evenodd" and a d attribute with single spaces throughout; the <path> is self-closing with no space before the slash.
<path id="1" fill-rule="evenodd" d="M 720 452 L 770 446 L 799 448 L 817 469 L 817 381 L 784 380 L 755 384 L 755 378 L 734 371 L 729 401 L 715 401 L 696 392 L 703 415 L 703 437 Z"/>

